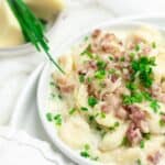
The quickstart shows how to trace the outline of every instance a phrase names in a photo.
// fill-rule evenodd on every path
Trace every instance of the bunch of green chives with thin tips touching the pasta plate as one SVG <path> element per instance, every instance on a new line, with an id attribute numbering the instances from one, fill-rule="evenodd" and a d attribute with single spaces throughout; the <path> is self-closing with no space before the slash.
<path id="1" fill-rule="evenodd" d="M 22 0 L 7 1 L 20 23 L 24 38 L 31 42 L 38 52 L 43 50 L 48 59 L 64 74 L 64 70 L 50 54 L 48 40 L 44 35 L 44 26 L 42 22 L 33 14 Z"/>

